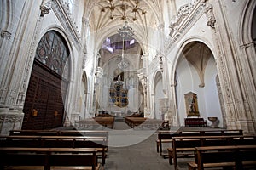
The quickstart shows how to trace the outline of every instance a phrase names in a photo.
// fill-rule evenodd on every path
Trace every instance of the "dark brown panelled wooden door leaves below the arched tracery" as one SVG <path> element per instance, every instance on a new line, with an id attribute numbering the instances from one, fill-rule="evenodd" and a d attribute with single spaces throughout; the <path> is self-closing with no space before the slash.
<path id="1" fill-rule="evenodd" d="M 61 127 L 68 83 L 35 60 L 27 89 L 22 129 L 49 129 Z M 32 111 L 37 111 L 36 115 Z"/>

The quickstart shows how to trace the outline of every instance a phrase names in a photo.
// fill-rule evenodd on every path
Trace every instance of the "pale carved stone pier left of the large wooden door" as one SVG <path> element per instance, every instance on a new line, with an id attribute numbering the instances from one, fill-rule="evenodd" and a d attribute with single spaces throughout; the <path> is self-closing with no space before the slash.
<path id="1" fill-rule="evenodd" d="M 6 14 L 15 10 L 12 2 L 5 8 Z M 40 2 L 26 1 L 20 16 L 6 18 L 6 28 L 1 31 L 1 82 L 0 82 L 0 133 L 8 134 L 11 129 L 22 127 L 22 112 L 26 88 L 32 70 L 35 41 L 38 39 L 41 17 L 34 14 Z M 18 8 L 18 7 L 17 7 Z M 11 23 L 19 23 L 14 27 Z M 15 35 L 15 37 L 12 37 Z M 3 66 L 3 65 L 5 66 Z M 3 66 L 3 67 L 2 67 Z"/>

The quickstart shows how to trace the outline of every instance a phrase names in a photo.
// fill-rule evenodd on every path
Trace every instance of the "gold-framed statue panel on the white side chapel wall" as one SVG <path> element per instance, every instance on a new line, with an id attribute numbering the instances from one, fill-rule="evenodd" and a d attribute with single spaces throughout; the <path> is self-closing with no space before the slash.
<path id="1" fill-rule="evenodd" d="M 200 116 L 197 104 L 197 94 L 189 92 L 185 94 L 187 116 Z"/>

